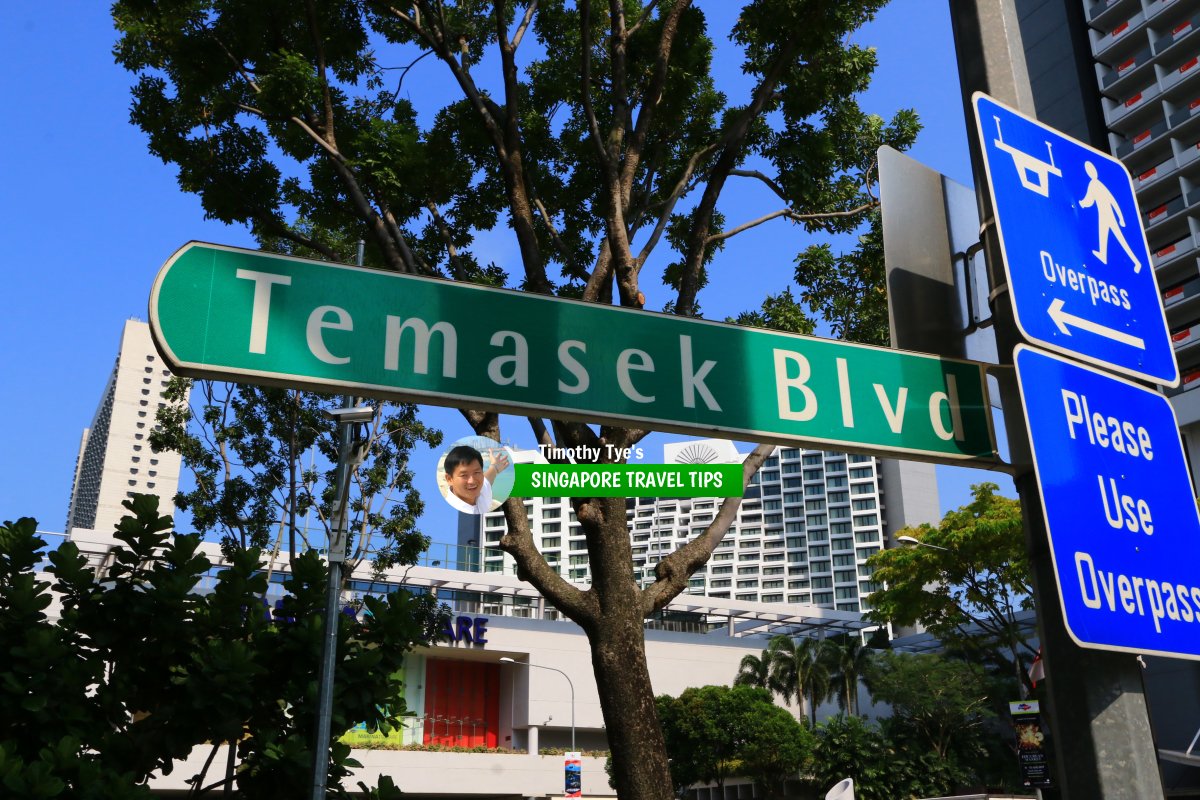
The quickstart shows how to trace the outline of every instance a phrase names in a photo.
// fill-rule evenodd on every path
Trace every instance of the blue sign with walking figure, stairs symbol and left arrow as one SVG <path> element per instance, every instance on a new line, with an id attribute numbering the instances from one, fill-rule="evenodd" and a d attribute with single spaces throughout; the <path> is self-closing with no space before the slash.
<path id="1" fill-rule="evenodd" d="M 1133 378 L 1177 385 L 1124 164 L 986 95 L 973 101 L 1021 335 Z"/>

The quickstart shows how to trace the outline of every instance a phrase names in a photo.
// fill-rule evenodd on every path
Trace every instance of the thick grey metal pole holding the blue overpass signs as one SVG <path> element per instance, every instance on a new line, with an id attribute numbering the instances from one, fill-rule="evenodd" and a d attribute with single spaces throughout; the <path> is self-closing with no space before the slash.
<path id="1" fill-rule="evenodd" d="M 976 91 L 1032 115 L 1033 98 L 1013 0 L 950 0 L 949 7 L 968 127 L 974 119 L 971 96 Z M 992 287 L 990 297 L 1001 362 L 997 377 L 1015 468 L 1014 481 L 1025 513 L 1061 796 L 1067 800 L 1160 798 L 1163 787 L 1138 660 L 1132 655 L 1080 648 L 1070 639 L 1063 621 L 1040 492 L 1012 367 L 1013 350 L 1021 338 L 995 235 L 983 155 L 976 137 L 970 139 Z"/>

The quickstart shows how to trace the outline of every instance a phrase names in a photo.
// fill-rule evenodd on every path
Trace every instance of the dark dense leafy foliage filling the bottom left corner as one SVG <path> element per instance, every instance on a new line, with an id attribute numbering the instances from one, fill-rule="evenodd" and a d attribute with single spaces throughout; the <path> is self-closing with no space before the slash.
<path id="1" fill-rule="evenodd" d="M 322 561 L 313 553 L 296 559 L 272 618 L 257 549 L 238 551 L 202 594 L 197 584 L 211 564 L 199 536 L 173 536 L 152 495 L 134 495 L 126 507 L 132 516 L 118 528 L 121 546 L 103 575 L 73 542 L 49 553 L 58 622 L 46 615 L 50 583 L 34 572 L 46 545 L 36 522 L 0 527 L 4 786 L 23 798 L 150 796 L 152 772 L 169 774 L 208 745 L 192 795 L 234 786 L 241 796 L 302 795 L 312 774 Z M 440 620 L 431 597 L 398 591 L 365 602 L 364 621 L 338 615 L 335 732 L 398 724 L 403 690 L 395 675 Z M 211 776 L 226 742 L 230 758 Z M 349 747 L 335 746 L 329 784 L 338 795 L 352 765 Z"/>

